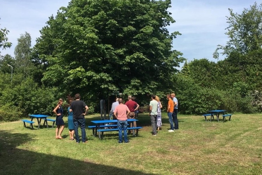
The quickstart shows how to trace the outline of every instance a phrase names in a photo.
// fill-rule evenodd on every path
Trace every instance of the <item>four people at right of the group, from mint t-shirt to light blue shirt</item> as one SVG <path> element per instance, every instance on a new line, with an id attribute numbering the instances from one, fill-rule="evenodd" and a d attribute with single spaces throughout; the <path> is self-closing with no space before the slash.
<path id="1" fill-rule="evenodd" d="M 178 129 L 178 119 L 177 119 L 177 112 L 178 112 L 178 100 L 176 99 L 176 95 L 174 93 L 167 94 L 168 106 L 167 106 L 167 115 L 169 118 L 170 129 L 168 132 L 174 132 L 174 130 Z M 150 109 L 149 109 L 149 116 L 151 119 L 152 125 L 152 135 L 157 135 L 157 130 L 161 129 L 162 125 L 162 116 L 161 116 L 161 108 L 162 104 L 159 100 L 159 97 L 156 95 L 152 95 L 152 100 L 150 101 Z M 174 122 L 174 125 L 173 125 Z"/>

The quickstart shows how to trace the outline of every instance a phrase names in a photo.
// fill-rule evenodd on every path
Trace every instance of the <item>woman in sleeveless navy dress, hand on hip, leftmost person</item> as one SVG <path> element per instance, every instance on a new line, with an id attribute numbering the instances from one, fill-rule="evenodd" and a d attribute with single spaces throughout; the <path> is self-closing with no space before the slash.
<path id="1" fill-rule="evenodd" d="M 63 104 L 63 99 L 59 99 L 56 108 L 54 108 L 53 110 L 54 113 L 56 114 L 56 139 L 63 139 L 63 137 L 61 137 L 61 134 L 64 130 L 65 123 L 63 120 L 62 104 Z"/>

